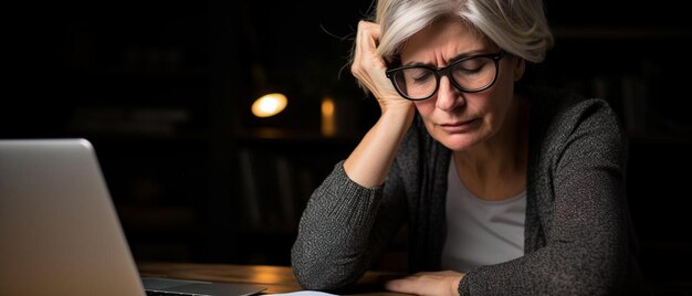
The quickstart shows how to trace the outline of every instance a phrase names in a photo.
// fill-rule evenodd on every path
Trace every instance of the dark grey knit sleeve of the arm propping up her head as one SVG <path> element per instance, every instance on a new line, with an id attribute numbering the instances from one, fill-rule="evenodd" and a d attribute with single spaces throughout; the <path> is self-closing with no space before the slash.
<path id="1" fill-rule="evenodd" d="M 346 287 L 381 255 L 406 207 L 401 198 L 384 199 L 382 191 L 350 180 L 339 161 L 313 192 L 291 250 L 291 265 L 303 288 Z"/>

